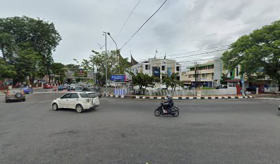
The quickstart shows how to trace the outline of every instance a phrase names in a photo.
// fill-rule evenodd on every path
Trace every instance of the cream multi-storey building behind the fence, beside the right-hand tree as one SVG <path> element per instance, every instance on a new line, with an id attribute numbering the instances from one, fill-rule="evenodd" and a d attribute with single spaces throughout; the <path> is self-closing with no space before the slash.
<path id="1" fill-rule="evenodd" d="M 200 86 L 213 87 L 213 85 L 220 85 L 222 77 L 221 59 L 215 59 L 200 64 L 196 69 L 199 70 Z M 191 85 L 191 87 L 196 86 L 195 66 L 190 66 L 187 68 L 187 71 L 182 72 L 181 81 L 185 84 Z"/>

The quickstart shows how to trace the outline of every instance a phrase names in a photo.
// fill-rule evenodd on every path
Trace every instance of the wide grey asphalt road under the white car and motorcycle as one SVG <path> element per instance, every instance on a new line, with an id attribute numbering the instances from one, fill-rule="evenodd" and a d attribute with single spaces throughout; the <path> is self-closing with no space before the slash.
<path id="1" fill-rule="evenodd" d="M 0 163 L 280 163 L 279 102 L 102 98 L 97 109 L 51 110 L 61 94 L 0 97 Z"/>

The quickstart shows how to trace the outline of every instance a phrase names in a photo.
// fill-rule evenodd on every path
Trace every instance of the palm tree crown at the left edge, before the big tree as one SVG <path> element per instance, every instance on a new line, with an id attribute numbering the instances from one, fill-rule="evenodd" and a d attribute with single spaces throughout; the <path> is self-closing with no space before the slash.
<path id="1" fill-rule="evenodd" d="M 0 48 L 4 61 L 6 61 L 8 53 L 12 53 L 16 50 L 16 44 L 14 42 L 14 36 L 10 33 L 0 33 Z"/>

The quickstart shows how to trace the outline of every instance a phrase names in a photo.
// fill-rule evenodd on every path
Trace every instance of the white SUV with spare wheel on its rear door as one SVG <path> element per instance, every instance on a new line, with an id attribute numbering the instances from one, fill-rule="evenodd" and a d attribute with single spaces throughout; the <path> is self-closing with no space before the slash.
<path id="1" fill-rule="evenodd" d="M 99 105 L 100 100 L 94 92 L 69 92 L 51 102 L 51 107 L 54 111 L 60 108 L 68 108 L 75 109 L 78 113 Z"/>

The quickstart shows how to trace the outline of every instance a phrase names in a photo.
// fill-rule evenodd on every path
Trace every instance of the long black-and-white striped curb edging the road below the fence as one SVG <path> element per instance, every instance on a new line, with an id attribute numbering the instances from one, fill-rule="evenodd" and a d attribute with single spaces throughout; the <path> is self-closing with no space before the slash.
<path id="1" fill-rule="evenodd" d="M 110 98 L 136 98 L 136 99 L 156 99 L 163 100 L 166 97 L 154 96 L 124 96 L 124 95 L 110 95 Z M 242 99 L 242 98 L 255 98 L 255 96 L 202 96 L 202 97 L 172 97 L 173 100 L 208 100 L 208 99 Z"/>

